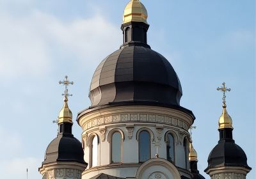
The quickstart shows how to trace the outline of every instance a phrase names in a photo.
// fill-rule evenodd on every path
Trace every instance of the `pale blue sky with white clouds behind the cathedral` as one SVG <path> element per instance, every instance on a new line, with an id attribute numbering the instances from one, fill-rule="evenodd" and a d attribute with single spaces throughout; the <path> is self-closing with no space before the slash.
<path id="1" fill-rule="evenodd" d="M 3 178 L 42 178 L 37 169 L 56 137 L 52 123 L 63 104 L 58 81 L 68 75 L 70 109 L 90 105 L 97 65 L 122 43 L 126 1 L 0 0 L 1 140 Z M 255 1 L 142 1 L 148 10 L 148 44 L 180 78 L 181 105 L 196 116 L 198 168 L 218 143 L 223 81 L 234 139 L 255 173 Z M 74 123 L 74 135 L 81 128 Z"/>

